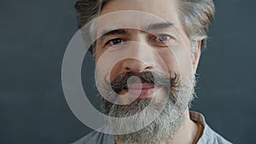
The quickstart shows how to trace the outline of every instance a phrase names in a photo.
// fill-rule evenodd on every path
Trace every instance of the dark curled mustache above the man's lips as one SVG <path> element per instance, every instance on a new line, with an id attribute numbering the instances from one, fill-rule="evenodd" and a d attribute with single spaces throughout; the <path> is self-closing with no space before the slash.
<path id="1" fill-rule="evenodd" d="M 136 78 L 132 78 L 136 77 Z M 160 72 L 123 72 L 110 83 L 112 89 L 119 94 L 123 89 L 128 88 L 128 84 L 136 83 L 137 78 L 141 83 L 154 84 L 164 88 L 175 89 L 179 82 L 179 75 L 174 73 L 174 77 Z"/>

